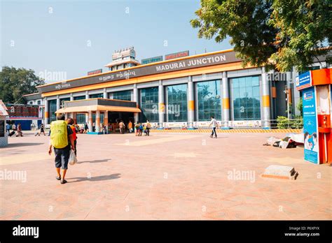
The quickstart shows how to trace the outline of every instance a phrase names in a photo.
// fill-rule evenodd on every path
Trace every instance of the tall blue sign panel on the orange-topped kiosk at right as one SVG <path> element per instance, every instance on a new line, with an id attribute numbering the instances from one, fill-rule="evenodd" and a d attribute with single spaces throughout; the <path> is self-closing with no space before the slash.
<path id="1" fill-rule="evenodd" d="M 304 156 L 306 161 L 318 163 L 318 124 L 317 124 L 316 95 L 314 87 L 303 91 L 303 133 Z"/>

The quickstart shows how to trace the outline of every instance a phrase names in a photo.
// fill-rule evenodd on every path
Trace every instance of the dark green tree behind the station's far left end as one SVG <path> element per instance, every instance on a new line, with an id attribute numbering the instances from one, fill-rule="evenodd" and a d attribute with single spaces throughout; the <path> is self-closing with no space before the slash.
<path id="1" fill-rule="evenodd" d="M 41 84 L 45 84 L 44 80 L 31 69 L 3 66 L 0 71 L 0 100 L 15 103 L 25 94 L 36 93 L 36 86 Z"/>

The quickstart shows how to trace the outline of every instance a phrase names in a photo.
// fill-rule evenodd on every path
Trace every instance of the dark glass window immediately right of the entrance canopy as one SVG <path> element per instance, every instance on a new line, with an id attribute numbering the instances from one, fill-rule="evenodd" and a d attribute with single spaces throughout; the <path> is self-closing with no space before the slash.
<path id="1" fill-rule="evenodd" d="M 158 122 L 158 87 L 139 89 L 141 96 L 141 113 L 139 120 Z"/>

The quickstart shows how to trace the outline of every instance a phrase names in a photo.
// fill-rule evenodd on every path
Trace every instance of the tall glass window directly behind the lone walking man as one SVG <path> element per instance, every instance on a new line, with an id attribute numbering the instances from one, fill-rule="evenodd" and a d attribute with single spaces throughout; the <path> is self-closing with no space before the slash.
<path id="1" fill-rule="evenodd" d="M 220 81 L 198 82 L 198 121 L 209 121 L 211 116 L 221 120 Z"/>

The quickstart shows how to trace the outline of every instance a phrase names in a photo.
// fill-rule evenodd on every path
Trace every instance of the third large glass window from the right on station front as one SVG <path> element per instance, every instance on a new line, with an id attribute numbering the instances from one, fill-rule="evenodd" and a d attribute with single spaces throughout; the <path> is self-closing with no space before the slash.
<path id="1" fill-rule="evenodd" d="M 187 121 L 187 84 L 167 87 L 167 116 L 168 121 Z"/>

